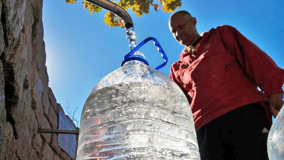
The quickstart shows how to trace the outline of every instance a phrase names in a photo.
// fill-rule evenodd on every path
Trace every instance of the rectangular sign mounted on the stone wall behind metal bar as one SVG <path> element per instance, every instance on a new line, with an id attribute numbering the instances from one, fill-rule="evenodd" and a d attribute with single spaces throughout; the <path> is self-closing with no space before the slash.
<path id="1" fill-rule="evenodd" d="M 75 130 L 74 124 L 64 115 L 62 111 L 58 112 L 58 129 L 72 129 Z M 58 146 L 66 152 L 72 159 L 76 155 L 76 135 L 75 134 L 59 134 Z"/>

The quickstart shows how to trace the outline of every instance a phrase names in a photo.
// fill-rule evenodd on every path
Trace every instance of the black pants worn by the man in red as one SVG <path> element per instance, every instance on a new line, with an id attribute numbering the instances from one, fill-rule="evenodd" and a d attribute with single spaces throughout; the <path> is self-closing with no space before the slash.
<path id="1" fill-rule="evenodd" d="M 196 131 L 201 160 L 268 160 L 270 127 L 259 102 L 232 110 Z"/>

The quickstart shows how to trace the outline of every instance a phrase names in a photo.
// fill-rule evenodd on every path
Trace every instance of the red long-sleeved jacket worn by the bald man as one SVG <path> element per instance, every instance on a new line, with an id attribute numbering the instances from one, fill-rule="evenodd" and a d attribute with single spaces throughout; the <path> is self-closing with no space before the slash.
<path id="1" fill-rule="evenodd" d="M 284 70 L 234 27 L 205 32 L 196 56 L 194 60 L 184 49 L 170 71 L 191 103 L 196 129 L 240 106 L 283 93 Z M 271 121 L 268 106 L 264 108 Z"/>

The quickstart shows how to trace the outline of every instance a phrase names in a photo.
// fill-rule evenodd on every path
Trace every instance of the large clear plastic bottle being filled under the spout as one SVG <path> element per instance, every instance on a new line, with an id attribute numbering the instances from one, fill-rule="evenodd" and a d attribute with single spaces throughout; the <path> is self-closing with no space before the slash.
<path id="1" fill-rule="evenodd" d="M 77 159 L 200 160 L 182 90 L 146 65 L 141 52 L 124 62 L 102 78 L 86 100 Z"/>

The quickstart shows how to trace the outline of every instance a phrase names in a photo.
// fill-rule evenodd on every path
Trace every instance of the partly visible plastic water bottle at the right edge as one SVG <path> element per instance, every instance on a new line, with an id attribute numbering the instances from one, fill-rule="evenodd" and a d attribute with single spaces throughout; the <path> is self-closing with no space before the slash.
<path id="1" fill-rule="evenodd" d="M 267 152 L 270 160 L 284 159 L 284 105 L 279 111 L 269 131 L 267 139 Z"/>

